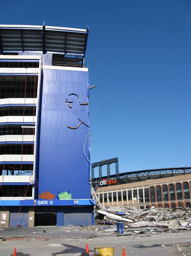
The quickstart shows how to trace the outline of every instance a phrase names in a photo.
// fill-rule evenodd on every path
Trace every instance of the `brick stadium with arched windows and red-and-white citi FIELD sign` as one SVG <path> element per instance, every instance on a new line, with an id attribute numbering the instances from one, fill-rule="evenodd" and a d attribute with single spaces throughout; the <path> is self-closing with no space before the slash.
<path id="1" fill-rule="evenodd" d="M 110 175 L 110 165 L 115 174 Z M 107 166 L 107 174 L 102 167 Z M 94 177 L 94 169 L 99 177 Z M 95 169 L 96 170 L 96 169 Z M 104 174 L 104 175 L 103 175 Z M 191 167 L 119 173 L 118 158 L 91 165 L 92 185 L 103 206 L 128 205 L 138 209 L 191 207 Z"/>

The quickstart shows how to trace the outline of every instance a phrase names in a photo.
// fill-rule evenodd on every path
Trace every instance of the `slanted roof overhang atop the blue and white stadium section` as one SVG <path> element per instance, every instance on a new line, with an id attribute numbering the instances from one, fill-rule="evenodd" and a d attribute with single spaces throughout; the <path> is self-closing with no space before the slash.
<path id="1" fill-rule="evenodd" d="M 0 54 L 34 51 L 81 56 L 84 58 L 88 27 L 0 25 Z"/>

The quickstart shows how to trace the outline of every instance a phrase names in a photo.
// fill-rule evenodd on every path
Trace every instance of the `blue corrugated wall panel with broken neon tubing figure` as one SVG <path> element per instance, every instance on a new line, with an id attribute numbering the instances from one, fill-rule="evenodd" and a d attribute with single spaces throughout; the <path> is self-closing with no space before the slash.
<path id="1" fill-rule="evenodd" d="M 91 198 L 88 93 L 88 72 L 43 70 L 38 198 Z"/>

